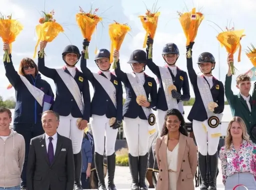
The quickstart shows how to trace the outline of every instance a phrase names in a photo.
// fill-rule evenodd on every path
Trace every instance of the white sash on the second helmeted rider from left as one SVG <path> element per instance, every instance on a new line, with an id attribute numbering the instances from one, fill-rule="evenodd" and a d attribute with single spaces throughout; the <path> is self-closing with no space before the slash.
<path id="1" fill-rule="evenodd" d="M 116 95 L 115 95 L 116 90 L 115 90 L 113 83 L 98 73 L 92 73 L 92 74 L 93 74 L 94 78 L 98 81 L 98 83 L 102 86 L 102 88 L 106 91 L 107 95 L 111 99 L 111 101 L 116 109 L 116 107 L 117 107 Z"/>

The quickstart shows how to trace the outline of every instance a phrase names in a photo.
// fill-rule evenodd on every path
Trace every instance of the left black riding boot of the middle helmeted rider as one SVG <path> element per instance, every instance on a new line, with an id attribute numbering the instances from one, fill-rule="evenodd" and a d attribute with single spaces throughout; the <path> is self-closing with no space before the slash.
<path id="1" fill-rule="evenodd" d="M 129 169 L 131 175 L 131 190 L 139 190 L 138 185 L 138 157 L 133 157 L 128 154 L 129 158 Z"/>

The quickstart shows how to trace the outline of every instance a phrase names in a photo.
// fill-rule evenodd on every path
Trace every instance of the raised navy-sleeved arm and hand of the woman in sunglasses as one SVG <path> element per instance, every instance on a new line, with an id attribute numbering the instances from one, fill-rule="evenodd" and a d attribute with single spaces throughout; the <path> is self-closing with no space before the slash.
<path id="1" fill-rule="evenodd" d="M 10 51 L 9 44 L 7 44 L 7 43 L 3 44 L 3 51 L 5 51 L 5 50 L 7 50 L 8 53 Z M 14 88 L 16 88 L 18 86 L 19 82 L 21 82 L 21 79 L 20 79 L 17 71 L 15 71 L 15 69 L 14 69 L 10 53 L 9 53 L 9 57 L 10 57 L 10 62 L 9 63 L 7 63 L 7 60 L 3 61 L 3 65 L 4 65 L 4 69 L 5 69 L 5 76 L 9 80 L 10 84 Z"/>

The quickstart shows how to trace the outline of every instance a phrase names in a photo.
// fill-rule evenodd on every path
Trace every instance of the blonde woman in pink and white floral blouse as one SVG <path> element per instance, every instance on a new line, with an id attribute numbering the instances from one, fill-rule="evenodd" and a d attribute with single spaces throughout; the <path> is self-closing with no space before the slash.
<path id="1" fill-rule="evenodd" d="M 243 185 L 248 190 L 256 189 L 256 145 L 249 140 L 240 117 L 234 117 L 228 124 L 220 160 L 225 190 L 233 190 L 237 185 Z M 237 187 L 235 190 L 243 189 Z"/>

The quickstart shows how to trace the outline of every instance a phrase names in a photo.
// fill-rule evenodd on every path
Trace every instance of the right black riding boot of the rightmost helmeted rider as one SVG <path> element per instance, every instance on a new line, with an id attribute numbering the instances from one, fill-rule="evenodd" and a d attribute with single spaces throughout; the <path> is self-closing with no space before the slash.
<path id="1" fill-rule="evenodd" d="M 209 190 L 217 190 L 216 176 L 218 172 L 218 157 L 217 152 L 214 155 L 209 156 Z"/>

